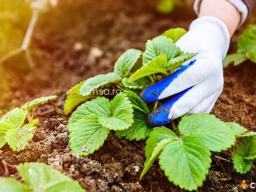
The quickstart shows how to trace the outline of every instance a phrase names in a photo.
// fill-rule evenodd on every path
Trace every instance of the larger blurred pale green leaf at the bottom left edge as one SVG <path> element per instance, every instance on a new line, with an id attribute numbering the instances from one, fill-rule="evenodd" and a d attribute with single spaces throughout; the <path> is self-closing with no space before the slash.
<path id="1" fill-rule="evenodd" d="M 76 181 L 73 181 L 71 178 L 61 174 L 60 171 L 52 169 L 46 164 L 20 164 L 18 166 L 18 172 L 22 176 L 25 183 L 28 184 L 30 188 L 33 188 L 33 191 L 84 191 Z M 60 188 L 61 186 L 63 186 L 63 188 Z"/>

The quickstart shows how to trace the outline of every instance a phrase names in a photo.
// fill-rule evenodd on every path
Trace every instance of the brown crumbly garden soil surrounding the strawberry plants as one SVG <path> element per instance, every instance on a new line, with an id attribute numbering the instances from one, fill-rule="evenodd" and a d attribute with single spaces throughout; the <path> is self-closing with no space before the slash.
<path id="1" fill-rule="evenodd" d="M 11 87 L 1 102 L 8 110 L 26 100 L 42 95 L 59 95 L 56 104 L 63 108 L 62 95 L 75 83 L 93 75 L 110 72 L 114 61 L 127 48 L 144 49 L 147 39 L 168 28 L 188 28 L 194 15 L 191 7 L 163 16 L 146 1 L 99 0 L 62 1 L 58 9 L 41 17 L 33 36 L 32 52 L 36 65 L 27 75 L 8 71 L 5 83 Z M 233 38 L 231 50 L 234 50 Z M 73 48 L 82 43 L 82 50 Z M 93 58 L 91 48 L 103 55 Z M 225 70 L 225 87 L 213 114 L 225 122 L 233 121 L 256 131 L 256 65 L 250 62 Z M 3 82 L 4 83 L 4 82 Z M 75 178 L 87 191 L 181 191 L 164 176 L 158 163 L 139 181 L 144 163 L 144 141 L 128 142 L 109 135 L 104 146 L 87 157 L 70 152 L 66 124 L 68 117 L 46 104 L 38 108 L 40 124 L 33 140 L 21 152 L 9 146 L 0 151 L 0 176 L 17 176 L 16 164 L 41 161 Z M 198 191 L 241 191 L 242 179 L 256 182 L 256 168 L 245 175 L 235 173 L 231 162 L 233 150 L 213 154 L 213 163 L 203 187 Z M 8 170 L 3 164 L 7 164 Z M 139 171 L 136 171 L 139 166 Z M 250 191 L 250 189 L 248 190 Z"/>

